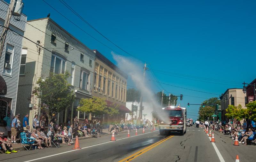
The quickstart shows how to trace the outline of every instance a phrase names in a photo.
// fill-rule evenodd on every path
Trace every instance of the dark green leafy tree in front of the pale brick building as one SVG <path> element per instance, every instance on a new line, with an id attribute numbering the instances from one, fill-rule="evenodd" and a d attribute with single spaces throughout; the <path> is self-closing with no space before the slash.
<path id="1" fill-rule="evenodd" d="M 75 100 L 75 95 L 70 91 L 70 84 L 67 82 L 68 77 L 68 72 L 64 74 L 50 73 L 45 80 L 41 77 L 36 82 L 38 87 L 34 88 L 33 94 L 48 106 L 51 117 L 53 113 L 70 107 Z"/>

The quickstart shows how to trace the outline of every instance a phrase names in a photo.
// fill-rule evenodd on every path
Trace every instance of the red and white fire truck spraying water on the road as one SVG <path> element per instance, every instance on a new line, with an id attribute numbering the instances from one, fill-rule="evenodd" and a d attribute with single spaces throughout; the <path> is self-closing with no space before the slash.
<path id="1" fill-rule="evenodd" d="M 187 109 L 185 107 L 166 107 L 164 108 L 164 113 L 169 117 L 167 121 L 160 121 L 159 123 L 159 132 L 160 135 L 165 135 L 171 132 L 180 132 L 181 135 L 184 135 L 187 130 L 186 119 L 187 119 Z"/>

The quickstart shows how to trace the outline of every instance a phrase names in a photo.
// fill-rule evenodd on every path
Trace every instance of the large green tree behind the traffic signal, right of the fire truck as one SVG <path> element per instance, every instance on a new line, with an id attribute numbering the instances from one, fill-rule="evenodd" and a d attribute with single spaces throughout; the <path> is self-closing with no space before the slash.
<path id="1" fill-rule="evenodd" d="M 220 104 L 220 99 L 218 97 L 212 97 L 207 100 L 204 100 L 202 104 L 206 105 L 203 107 L 203 105 L 200 105 L 199 107 L 199 120 L 206 120 L 207 117 L 211 117 L 213 114 L 215 114 L 215 108 L 216 104 Z"/>

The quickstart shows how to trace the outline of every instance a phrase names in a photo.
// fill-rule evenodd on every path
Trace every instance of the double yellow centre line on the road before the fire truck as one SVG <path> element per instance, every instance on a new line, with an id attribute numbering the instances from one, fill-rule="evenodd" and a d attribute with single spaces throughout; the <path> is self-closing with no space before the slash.
<path id="1" fill-rule="evenodd" d="M 173 136 L 174 135 L 168 136 L 168 137 L 164 138 L 163 140 L 160 140 L 160 141 L 158 141 L 158 142 L 156 142 L 156 143 L 154 143 L 154 144 L 152 144 L 152 145 L 150 145 L 150 146 L 148 146 L 148 147 L 146 147 L 146 148 L 144 148 L 144 149 L 142 149 L 142 150 L 140 150 L 140 151 L 124 158 L 124 159 L 122 159 L 122 160 L 119 160 L 118 162 L 132 161 L 134 158 L 137 158 L 138 156 L 144 154 L 145 152 L 153 149 L 154 147 L 158 146 L 159 144 L 163 143 L 164 141 L 167 141 L 168 139 L 172 138 Z"/>

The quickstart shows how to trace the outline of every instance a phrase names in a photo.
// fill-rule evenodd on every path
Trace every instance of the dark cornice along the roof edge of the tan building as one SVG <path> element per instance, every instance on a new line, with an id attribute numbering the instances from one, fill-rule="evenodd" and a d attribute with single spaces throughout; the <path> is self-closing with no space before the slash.
<path id="1" fill-rule="evenodd" d="M 110 65 L 111 69 L 122 75 L 125 79 L 128 78 L 127 74 L 125 74 L 118 66 L 112 63 L 108 58 L 102 55 L 98 50 L 92 50 L 96 54 L 96 58 L 101 59 L 102 62 Z"/>

